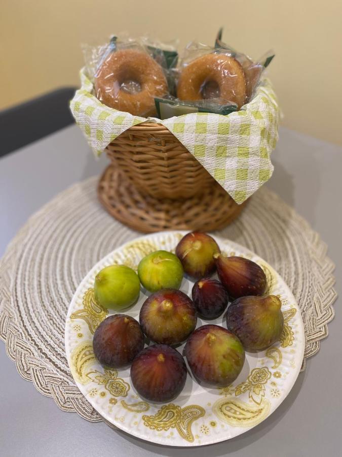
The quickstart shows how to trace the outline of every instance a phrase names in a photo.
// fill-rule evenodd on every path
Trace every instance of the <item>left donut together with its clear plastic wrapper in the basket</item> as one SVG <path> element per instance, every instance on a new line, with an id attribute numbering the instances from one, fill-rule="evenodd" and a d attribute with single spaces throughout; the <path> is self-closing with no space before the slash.
<path id="1" fill-rule="evenodd" d="M 154 116 L 154 97 L 169 92 L 164 51 L 142 40 L 112 37 L 107 46 L 88 49 L 87 69 L 98 100 L 135 116 Z"/>

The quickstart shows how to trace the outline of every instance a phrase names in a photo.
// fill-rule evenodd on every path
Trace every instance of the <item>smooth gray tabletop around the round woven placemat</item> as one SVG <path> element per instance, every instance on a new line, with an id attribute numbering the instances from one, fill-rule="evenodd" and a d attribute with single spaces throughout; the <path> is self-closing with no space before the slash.
<path id="1" fill-rule="evenodd" d="M 266 184 L 305 217 L 328 244 L 342 273 L 342 148 L 291 130 L 280 130 L 273 155 L 275 172 Z M 77 126 L 70 126 L 0 159 L 0 255 L 26 219 L 56 193 L 98 174 Z M 339 282 L 336 289 L 339 292 Z M 140 441 L 101 423 L 58 409 L 23 380 L 0 343 L 0 455 L 253 455 L 306 456 L 341 454 L 342 405 L 340 299 L 329 337 L 300 373 L 289 396 L 260 425 L 209 447 L 170 448 Z"/>

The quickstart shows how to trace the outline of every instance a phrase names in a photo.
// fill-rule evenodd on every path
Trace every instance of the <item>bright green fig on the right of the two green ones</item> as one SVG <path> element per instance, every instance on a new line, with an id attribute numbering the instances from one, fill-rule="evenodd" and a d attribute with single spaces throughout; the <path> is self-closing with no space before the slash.
<path id="1" fill-rule="evenodd" d="M 179 289 L 183 274 L 178 257 L 168 251 L 151 252 L 138 265 L 141 284 L 150 292 L 168 287 Z"/>

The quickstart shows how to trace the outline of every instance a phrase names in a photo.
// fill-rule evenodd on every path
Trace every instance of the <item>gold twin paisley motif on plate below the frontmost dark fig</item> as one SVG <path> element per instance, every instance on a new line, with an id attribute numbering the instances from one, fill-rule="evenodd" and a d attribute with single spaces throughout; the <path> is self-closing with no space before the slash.
<path id="1" fill-rule="evenodd" d="M 151 430 L 167 431 L 170 428 L 176 429 L 179 435 L 186 441 L 193 442 L 194 435 L 191 426 L 195 420 L 203 417 L 205 409 L 199 405 L 189 405 L 181 408 L 173 403 L 164 405 L 155 415 L 142 416 L 144 426 Z"/>

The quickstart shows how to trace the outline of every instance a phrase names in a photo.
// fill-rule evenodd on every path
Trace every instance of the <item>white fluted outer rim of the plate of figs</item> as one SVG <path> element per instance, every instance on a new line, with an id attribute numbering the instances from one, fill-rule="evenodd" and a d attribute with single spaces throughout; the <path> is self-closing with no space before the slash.
<path id="1" fill-rule="evenodd" d="M 221 442 L 224 442 L 224 441 L 228 441 L 228 440 L 231 440 L 233 438 L 237 438 L 238 436 L 240 435 L 243 435 L 245 434 L 246 432 L 252 430 L 254 427 L 257 427 L 259 425 L 261 425 L 261 423 L 269 418 L 275 411 L 276 409 L 278 409 L 278 407 L 284 402 L 284 400 L 287 398 L 287 396 L 289 395 L 290 391 L 292 390 L 297 378 L 298 378 L 298 375 L 299 375 L 299 372 L 300 372 L 300 367 L 301 367 L 301 363 L 300 364 L 296 364 L 296 367 L 294 369 L 294 376 L 293 376 L 293 382 L 291 383 L 291 385 L 289 386 L 289 388 L 287 388 L 287 391 L 286 393 L 284 393 L 284 395 L 282 396 L 282 400 L 280 401 L 280 403 L 275 407 L 275 409 L 269 413 L 265 418 L 263 418 L 259 423 L 257 423 L 256 425 L 252 425 L 248 428 L 246 428 L 246 430 L 242 431 L 241 433 L 237 434 L 237 435 L 234 435 L 232 437 L 223 437 L 223 439 L 217 439 L 217 437 L 212 436 L 212 439 L 208 442 L 205 442 L 205 443 L 201 443 L 201 444 L 198 444 L 198 443 L 193 443 L 193 442 L 186 442 L 184 444 L 179 444 L 179 443 L 176 443 L 176 444 L 173 444 L 172 442 L 170 443 L 165 443 L 163 440 L 163 437 L 154 437 L 153 440 L 151 440 L 150 438 L 144 438 L 144 437 L 141 437 L 141 436 L 138 436 L 136 434 L 133 434 L 131 433 L 130 431 L 127 430 L 127 428 L 122 428 L 122 424 L 121 423 L 117 423 L 117 422 L 113 422 L 113 419 L 112 417 L 106 412 L 106 411 L 101 411 L 101 413 L 98 411 L 97 409 L 97 405 L 95 403 L 95 401 L 92 400 L 92 398 L 88 398 L 85 396 L 85 394 L 83 393 L 82 391 L 82 387 L 84 387 L 81 383 L 79 383 L 74 377 L 73 377 L 73 374 L 72 374 L 72 371 L 71 371 L 71 367 L 70 367 L 70 363 L 69 363 L 69 358 L 70 358 L 70 354 L 71 354 L 71 351 L 70 351 L 70 348 L 69 348 L 69 345 L 67 344 L 67 331 L 68 331 L 68 318 L 69 318 L 69 315 L 70 315 L 70 309 L 72 308 L 72 305 L 74 305 L 74 302 L 77 300 L 78 296 L 80 295 L 81 293 L 81 290 L 84 286 L 84 282 L 86 281 L 86 279 L 93 275 L 94 271 L 97 270 L 99 268 L 99 266 L 104 262 L 104 260 L 115 254 L 118 250 L 122 250 L 126 245 L 129 245 L 129 244 L 132 244 L 132 243 L 135 243 L 139 240 L 145 240 L 145 239 L 148 239 L 148 238 L 153 238 L 157 235 L 164 235 L 164 236 L 167 236 L 167 235 L 175 235 L 175 234 L 181 234 L 181 235 L 186 235 L 187 233 L 190 233 L 189 231 L 186 231 L 186 230 L 168 230 L 168 231 L 160 231 L 160 232 L 154 232 L 154 233 L 151 233 L 151 234 L 146 234 L 146 235 L 141 235 L 139 237 L 136 237 L 132 240 L 129 240 L 125 243 L 123 243 L 122 245 L 118 246 L 117 248 L 113 249 L 112 251 L 108 252 L 106 255 L 104 255 L 100 260 L 98 260 L 98 262 L 96 262 L 96 264 L 88 271 L 88 273 L 86 273 L 86 275 L 83 277 L 83 279 L 81 280 L 81 282 L 79 283 L 77 289 L 75 289 L 75 292 L 73 293 L 73 296 L 72 296 L 72 299 L 70 301 L 70 304 L 69 304 L 69 307 L 68 307 L 68 310 L 67 310 L 67 313 L 66 313 L 66 317 L 65 317 L 65 327 L 64 327 L 64 347 L 65 347 L 65 354 L 66 354 L 66 360 L 67 360 L 67 364 L 68 364 L 68 367 L 70 369 L 70 373 L 71 373 L 71 376 L 72 376 L 72 379 L 73 379 L 73 382 L 77 385 L 77 387 L 80 389 L 80 392 L 81 394 L 86 398 L 86 400 L 91 404 L 91 406 L 94 408 L 94 410 L 99 414 L 99 416 L 104 419 L 105 422 L 109 422 L 109 424 L 111 424 L 115 429 L 118 429 L 120 430 L 121 432 L 124 432 L 124 433 L 127 433 L 129 436 L 133 436 L 134 438 L 137 438 L 139 440 L 142 440 L 142 441 L 146 441 L 146 442 L 149 442 L 149 443 L 155 443 L 155 444 L 159 444 L 159 445 L 162 445 L 162 446 L 166 446 L 166 447 L 201 447 L 201 446 L 208 446 L 208 445 L 211 445 L 211 444 L 215 444 L 215 443 L 221 443 Z M 260 257 L 258 254 L 256 254 L 255 252 L 251 251 L 250 249 L 248 249 L 247 247 L 239 244 L 239 243 L 236 243 L 235 241 L 232 241 L 230 240 L 229 238 L 223 238 L 223 237 L 220 237 L 220 236 L 217 236 L 215 234 L 212 234 L 212 233 L 209 233 L 209 232 L 206 232 L 208 235 L 210 235 L 212 238 L 214 238 L 214 240 L 219 244 L 220 241 L 223 241 L 223 242 L 229 242 L 230 244 L 232 244 L 232 246 L 236 246 L 237 249 L 239 248 L 242 248 L 242 250 L 244 251 L 248 251 L 249 253 L 251 253 L 252 255 L 258 257 L 259 259 L 262 260 L 263 263 L 266 264 L 266 266 L 269 266 L 271 267 L 272 270 L 274 270 L 277 275 L 282 279 L 283 283 L 285 284 L 285 286 L 287 287 L 287 289 L 289 290 L 292 298 L 293 298 L 293 302 L 292 302 L 292 305 L 297 309 L 297 311 L 299 312 L 299 316 L 300 318 L 298 319 L 299 320 L 299 330 L 300 330 L 300 336 L 302 336 L 302 343 L 300 345 L 300 347 L 298 347 L 298 353 L 300 355 L 300 360 L 302 361 L 303 360 L 303 356 L 304 356 L 304 352 L 305 352 L 305 344 L 306 344 L 306 335 L 305 335 L 305 329 L 304 329 L 304 324 L 303 324 L 303 320 L 302 320 L 302 316 L 301 316 L 301 311 L 300 311 L 300 308 L 298 306 L 298 303 L 295 299 L 295 297 L 293 296 L 293 293 L 291 291 L 291 289 L 289 288 L 289 286 L 287 285 L 287 283 L 284 281 L 284 279 L 282 278 L 282 276 L 266 261 L 264 260 L 262 257 Z M 298 355 L 298 358 L 299 358 L 299 355 Z M 162 406 L 162 404 L 161 404 Z M 107 424 L 107 425 L 109 425 Z"/>

